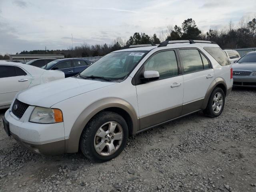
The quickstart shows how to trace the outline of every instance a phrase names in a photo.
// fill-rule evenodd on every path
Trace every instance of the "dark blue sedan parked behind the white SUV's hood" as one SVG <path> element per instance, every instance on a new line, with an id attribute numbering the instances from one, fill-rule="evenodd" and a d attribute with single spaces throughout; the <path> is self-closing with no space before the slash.
<path id="1" fill-rule="evenodd" d="M 92 62 L 89 60 L 66 58 L 54 60 L 42 66 L 42 68 L 46 70 L 60 70 L 65 73 L 65 77 L 71 77 L 85 70 L 90 64 L 92 64 Z"/>

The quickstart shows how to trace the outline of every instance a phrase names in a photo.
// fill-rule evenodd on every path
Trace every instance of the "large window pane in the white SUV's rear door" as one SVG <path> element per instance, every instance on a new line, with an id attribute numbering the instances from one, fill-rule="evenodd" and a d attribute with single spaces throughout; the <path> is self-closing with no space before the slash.
<path id="1" fill-rule="evenodd" d="M 202 59 L 197 49 L 183 49 L 179 50 L 179 52 L 182 58 L 184 74 L 204 70 Z"/>

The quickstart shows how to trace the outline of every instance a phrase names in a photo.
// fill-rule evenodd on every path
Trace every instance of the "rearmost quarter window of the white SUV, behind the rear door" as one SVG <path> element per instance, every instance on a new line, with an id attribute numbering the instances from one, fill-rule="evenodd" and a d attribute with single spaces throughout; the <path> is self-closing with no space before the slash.
<path id="1" fill-rule="evenodd" d="M 204 47 L 221 66 L 230 65 L 230 62 L 220 47 Z"/>

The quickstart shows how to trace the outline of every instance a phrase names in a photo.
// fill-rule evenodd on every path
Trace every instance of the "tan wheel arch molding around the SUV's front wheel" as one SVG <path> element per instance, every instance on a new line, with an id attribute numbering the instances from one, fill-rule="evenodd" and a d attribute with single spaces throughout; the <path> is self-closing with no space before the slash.
<path id="1" fill-rule="evenodd" d="M 132 129 L 132 134 L 140 129 L 138 116 L 131 104 L 120 98 L 104 98 L 92 103 L 78 116 L 72 126 L 69 138 L 65 140 L 66 153 L 78 152 L 79 140 L 84 127 L 94 115 L 106 108 L 120 108 L 126 111 L 132 120 L 132 127 L 129 127 Z"/>

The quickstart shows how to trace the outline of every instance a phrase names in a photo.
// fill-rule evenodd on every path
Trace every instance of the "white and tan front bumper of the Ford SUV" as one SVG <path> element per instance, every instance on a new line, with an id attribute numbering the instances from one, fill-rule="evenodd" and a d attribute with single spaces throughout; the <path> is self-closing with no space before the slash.
<path id="1" fill-rule="evenodd" d="M 63 154 L 65 152 L 63 122 L 55 124 L 28 122 L 29 116 L 26 118 L 26 112 L 18 119 L 10 110 L 6 111 L 4 118 L 9 124 L 10 135 L 22 146 L 38 154 Z"/>

